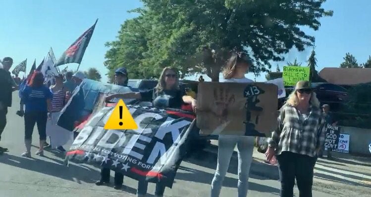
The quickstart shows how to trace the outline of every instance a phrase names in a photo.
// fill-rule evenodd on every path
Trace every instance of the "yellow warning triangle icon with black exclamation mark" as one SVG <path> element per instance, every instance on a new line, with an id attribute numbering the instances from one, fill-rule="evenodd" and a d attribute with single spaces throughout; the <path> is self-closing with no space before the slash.
<path id="1" fill-rule="evenodd" d="M 105 129 L 138 129 L 137 123 L 135 123 L 122 99 L 118 101 L 116 107 L 113 109 L 111 116 L 106 122 Z"/>

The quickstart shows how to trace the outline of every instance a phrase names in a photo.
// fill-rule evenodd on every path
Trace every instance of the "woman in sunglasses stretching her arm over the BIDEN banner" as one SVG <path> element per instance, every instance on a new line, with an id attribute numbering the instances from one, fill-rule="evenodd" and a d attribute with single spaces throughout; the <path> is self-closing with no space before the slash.
<path id="1" fill-rule="evenodd" d="M 128 92 L 120 94 L 112 94 L 106 97 L 106 100 L 113 98 L 120 99 L 139 99 L 141 101 L 152 102 L 154 107 L 164 108 L 181 108 L 182 104 L 189 103 L 192 107 L 196 105 L 196 100 L 191 96 L 186 96 L 185 92 L 179 88 L 177 71 L 173 68 L 166 67 L 162 70 L 159 77 L 159 82 L 154 89 L 143 92 Z M 148 182 L 139 181 L 137 197 L 145 197 L 147 194 Z M 156 184 L 155 197 L 163 197 L 165 186 Z"/>

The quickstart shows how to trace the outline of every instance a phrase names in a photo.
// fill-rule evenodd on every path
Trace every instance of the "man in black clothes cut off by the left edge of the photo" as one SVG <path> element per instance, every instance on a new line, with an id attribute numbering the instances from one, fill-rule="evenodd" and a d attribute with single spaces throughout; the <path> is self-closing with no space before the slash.
<path id="1" fill-rule="evenodd" d="M 6 114 L 8 107 L 11 107 L 12 92 L 16 89 L 17 84 L 11 77 L 9 69 L 13 65 L 13 59 L 5 57 L 2 60 L 3 68 L 0 69 L 0 140 L 1 133 L 6 125 Z M 0 147 L 0 154 L 8 149 Z"/>

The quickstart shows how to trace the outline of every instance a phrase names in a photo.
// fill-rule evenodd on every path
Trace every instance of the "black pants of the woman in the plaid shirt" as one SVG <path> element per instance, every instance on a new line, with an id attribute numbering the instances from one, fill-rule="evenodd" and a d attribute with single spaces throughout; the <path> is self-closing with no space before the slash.
<path id="1" fill-rule="evenodd" d="M 299 197 L 312 197 L 313 169 L 317 158 L 291 152 L 282 152 L 277 156 L 281 197 L 293 197 L 293 190 L 298 184 Z"/>

